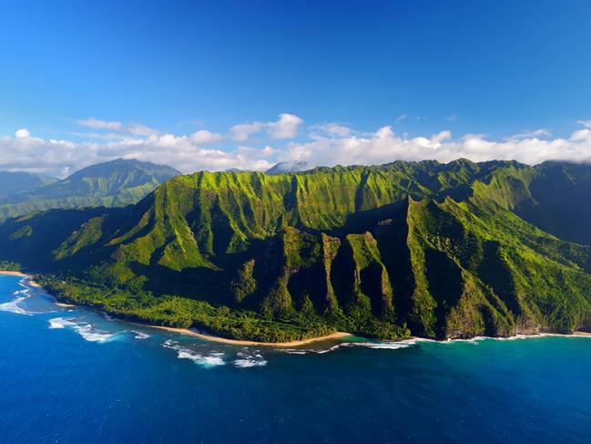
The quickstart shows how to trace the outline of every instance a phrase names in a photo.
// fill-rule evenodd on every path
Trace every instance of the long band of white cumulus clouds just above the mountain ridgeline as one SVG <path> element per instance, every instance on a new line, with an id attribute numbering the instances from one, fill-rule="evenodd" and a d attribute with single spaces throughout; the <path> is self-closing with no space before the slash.
<path id="1" fill-rule="evenodd" d="M 229 168 L 266 170 L 283 160 L 307 160 L 313 166 L 370 165 L 393 160 L 446 162 L 458 158 L 519 160 L 528 164 L 544 160 L 591 161 L 591 121 L 588 120 L 579 121 L 579 129 L 567 137 L 554 137 L 547 129 L 535 129 L 500 140 L 482 134 L 458 137 L 450 130 L 409 137 L 406 133 L 395 133 L 388 126 L 373 132 L 359 132 L 336 123 L 323 123 L 309 127 L 307 138 L 287 140 L 279 146 L 280 139 L 296 135 L 302 125 L 301 118 L 281 114 L 276 121 L 231 127 L 227 134 L 206 129 L 185 135 L 140 129 L 132 132 L 130 128 L 134 127 L 130 124 L 120 124 L 116 129 L 114 123 L 118 122 L 94 119 L 90 124 L 102 125 L 94 129 L 105 132 L 97 134 L 117 134 L 117 138 L 100 139 L 87 135 L 84 141 L 43 139 L 28 129 L 17 129 L 13 136 L 0 138 L 0 170 L 29 170 L 64 176 L 87 165 L 117 158 L 168 164 L 182 172 Z M 245 125 L 249 128 L 242 128 Z M 262 131 L 261 137 L 267 140 L 260 145 L 233 146 L 237 127 L 240 127 L 238 131 L 248 133 L 247 139 L 256 129 Z"/>

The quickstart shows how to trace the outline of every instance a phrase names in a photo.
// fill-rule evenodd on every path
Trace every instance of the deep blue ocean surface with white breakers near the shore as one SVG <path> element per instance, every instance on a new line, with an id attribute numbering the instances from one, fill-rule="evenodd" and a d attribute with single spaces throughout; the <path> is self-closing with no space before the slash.
<path id="1" fill-rule="evenodd" d="M 227 346 L 0 275 L 0 442 L 591 442 L 591 338 Z"/>

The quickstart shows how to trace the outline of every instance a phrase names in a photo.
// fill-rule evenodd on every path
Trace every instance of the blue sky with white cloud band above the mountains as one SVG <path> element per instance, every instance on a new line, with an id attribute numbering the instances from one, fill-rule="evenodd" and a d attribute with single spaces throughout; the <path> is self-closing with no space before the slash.
<path id="1" fill-rule="evenodd" d="M 0 5 L 0 170 L 591 161 L 587 1 Z"/>

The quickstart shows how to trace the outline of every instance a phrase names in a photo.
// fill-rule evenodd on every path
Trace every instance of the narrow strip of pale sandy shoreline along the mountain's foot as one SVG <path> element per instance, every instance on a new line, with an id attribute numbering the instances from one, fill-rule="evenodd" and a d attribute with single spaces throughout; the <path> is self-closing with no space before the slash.
<path id="1" fill-rule="evenodd" d="M 0 275 L 1 274 L 24 277 L 27 279 L 28 284 L 30 284 L 32 287 L 41 288 L 41 285 L 39 285 L 35 282 L 35 280 L 31 274 L 25 274 L 22 272 L 15 272 L 15 271 L 0 270 Z M 59 300 L 57 300 L 56 296 L 54 296 L 53 294 L 50 294 L 50 295 L 54 298 L 54 304 L 59 307 L 63 307 L 63 308 L 82 307 L 82 308 L 87 308 L 87 309 L 91 309 L 91 310 L 96 310 L 96 308 L 92 307 L 92 306 L 63 303 L 63 302 L 60 302 Z M 99 312 L 103 313 L 104 315 L 108 315 L 105 312 L 101 312 L 100 310 L 99 310 Z M 115 319 L 117 319 L 117 317 Z M 122 322 L 127 322 L 130 324 L 135 324 L 135 325 L 147 327 L 147 328 L 156 328 L 158 330 L 168 331 L 170 333 L 177 333 L 179 335 L 195 336 L 195 337 L 199 337 L 200 339 L 203 339 L 205 341 L 217 342 L 220 344 L 228 344 L 229 346 L 293 347 L 293 346 L 305 346 L 305 345 L 316 343 L 316 342 L 329 341 L 329 340 L 339 340 L 339 339 L 343 339 L 345 337 L 356 336 L 356 335 L 353 335 L 352 333 L 348 333 L 348 332 L 334 332 L 331 335 L 316 336 L 316 337 L 311 337 L 308 339 L 299 339 L 299 340 L 288 341 L 288 342 L 260 342 L 260 341 L 250 341 L 250 340 L 242 340 L 242 339 L 229 339 L 229 338 L 222 337 L 222 336 L 214 336 L 214 335 L 209 335 L 206 333 L 199 333 L 199 331 L 193 330 L 191 328 L 178 328 L 178 327 L 171 327 L 171 326 L 166 326 L 166 325 L 144 324 L 144 323 L 127 321 L 126 319 L 117 319 L 117 320 L 120 320 Z M 484 339 L 484 338 L 498 339 L 498 340 L 511 340 L 511 339 L 535 338 L 535 337 L 543 337 L 543 336 L 565 336 L 565 337 L 587 336 L 587 337 L 589 337 L 589 336 L 591 336 L 591 332 L 577 330 L 571 334 L 540 332 L 540 333 L 535 333 L 535 334 L 531 334 L 531 335 L 515 334 L 514 336 L 507 336 L 507 337 L 474 336 L 469 339 L 443 339 L 443 340 L 429 339 L 429 338 L 423 338 L 423 337 L 418 337 L 418 336 L 410 336 L 407 339 L 390 340 L 387 342 L 401 342 L 401 341 L 415 340 L 415 341 L 433 341 L 433 342 L 438 342 L 438 343 L 444 344 L 444 343 L 455 342 L 455 341 L 458 341 L 458 342 L 476 341 L 476 340 Z"/>

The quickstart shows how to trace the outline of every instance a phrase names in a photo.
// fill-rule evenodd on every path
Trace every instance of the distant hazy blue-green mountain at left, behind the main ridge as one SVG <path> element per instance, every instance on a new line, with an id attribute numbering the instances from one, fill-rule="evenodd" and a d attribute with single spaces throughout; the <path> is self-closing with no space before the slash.
<path id="1" fill-rule="evenodd" d="M 63 181 L 0 198 L 0 220 L 52 208 L 125 206 L 178 174 L 173 168 L 139 160 L 99 163 Z"/>

